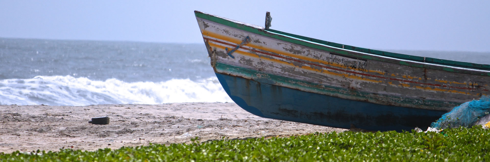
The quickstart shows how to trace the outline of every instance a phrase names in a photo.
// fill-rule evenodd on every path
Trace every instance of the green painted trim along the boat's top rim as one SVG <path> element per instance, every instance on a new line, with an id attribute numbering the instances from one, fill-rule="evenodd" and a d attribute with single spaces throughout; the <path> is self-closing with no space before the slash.
<path id="1" fill-rule="evenodd" d="M 196 17 L 198 17 L 198 18 L 213 21 L 213 22 L 216 22 L 216 23 L 228 26 L 228 27 L 233 27 L 233 28 L 245 30 L 248 32 L 264 35 L 264 36 L 271 37 L 271 38 L 276 38 L 279 40 L 283 40 L 283 41 L 287 41 L 287 42 L 291 42 L 294 44 L 299 44 L 299 45 L 303 45 L 306 47 L 311 47 L 311 48 L 315 48 L 315 49 L 319 49 L 319 50 L 323 50 L 323 51 L 327 51 L 327 52 L 333 52 L 333 53 L 345 54 L 345 55 L 350 55 L 350 56 L 355 56 L 355 57 L 360 57 L 360 58 L 365 58 L 365 59 L 401 64 L 401 61 L 396 62 L 396 61 L 393 61 L 392 59 L 387 59 L 387 58 L 382 58 L 382 57 L 372 57 L 372 56 L 366 55 L 366 54 L 359 54 L 359 53 L 353 53 L 353 52 L 344 51 L 344 50 L 337 50 L 337 49 L 321 46 L 321 45 L 318 45 L 316 43 L 323 44 L 323 45 L 330 46 L 330 47 L 336 47 L 336 48 L 342 48 L 342 46 L 344 46 L 344 49 L 351 50 L 351 51 L 357 51 L 357 52 L 368 53 L 368 54 L 376 54 L 376 55 L 388 56 L 388 57 L 392 57 L 392 58 L 412 60 L 412 61 L 417 61 L 417 62 L 424 62 L 424 57 L 420 57 L 420 56 L 407 55 L 407 54 L 397 54 L 397 53 L 390 53 L 390 52 L 384 52 L 384 51 L 378 51 L 378 50 L 358 48 L 358 47 L 354 47 L 354 46 L 343 45 L 343 44 L 333 43 L 333 42 L 327 42 L 327 41 L 322 41 L 319 39 L 314 39 L 314 38 L 304 37 L 304 36 L 295 35 L 295 34 L 291 34 L 291 33 L 286 33 L 286 32 L 282 32 L 282 31 L 278 31 L 278 30 L 274 30 L 274 29 L 265 30 L 262 28 L 249 27 L 249 26 L 245 26 L 243 24 L 239 24 L 239 23 L 233 22 L 233 21 L 225 19 L 225 18 L 210 15 L 210 14 L 203 13 L 200 11 L 195 11 L 195 14 L 196 14 Z M 453 66 L 453 67 L 463 67 L 463 68 L 478 69 L 478 70 L 490 70 L 490 65 L 488 65 L 488 64 L 477 64 L 477 63 L 445 60 L 445 59 L 438 59 L 438 58 L 431 58 L 431 57 L 425 57 L 425 62 L 438 64 L 438 65 Z M 404 64 L 402 64 L 402 65 L 407 65 L 407 66 L 412 66 L 412 67 L 429 68 L 429 69 L 443 70 L 443 71 L 456 72 L 456 73 L 468 73 L 467 71 L 463 71 L 463 70 L 456 70 L 456 69 L 448 70 L 448 67 L 442 68 L 440 66 L 431 66 L 431 65 L 427 65 L 427 64 L 415 64 L 415 63 L 408 63 L 405 61 L 403 61 L 403 63 Z M 483 73 L 482 74 L 481 72 L 469 72 L 468 74 L 490 76 L 490 73 Z"/>

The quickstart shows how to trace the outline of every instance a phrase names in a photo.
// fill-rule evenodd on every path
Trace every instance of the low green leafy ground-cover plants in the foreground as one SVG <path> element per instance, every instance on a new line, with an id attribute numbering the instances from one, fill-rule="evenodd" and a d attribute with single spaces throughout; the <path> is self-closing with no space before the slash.
<path id="1" fill-rule="evenodd" d="M 120 149 L 63 149 L 40 154 L 1 154 L 0 161 L 490 161 L 490 130 L 453 128 L 444 133 L 377 132 L 315 133 L 289 137 L 207 141 L 190 144 L 150 144 Z"/>

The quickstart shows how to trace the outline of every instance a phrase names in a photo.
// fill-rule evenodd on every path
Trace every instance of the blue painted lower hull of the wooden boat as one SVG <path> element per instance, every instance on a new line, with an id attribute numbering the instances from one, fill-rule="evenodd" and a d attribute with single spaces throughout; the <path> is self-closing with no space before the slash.
<path id="1" fill-rule="evenodd" d="M 353 101 L 216 73 L 231 99 L 261 117 L 371 131 L 426 129 L 445 111 Z"/>

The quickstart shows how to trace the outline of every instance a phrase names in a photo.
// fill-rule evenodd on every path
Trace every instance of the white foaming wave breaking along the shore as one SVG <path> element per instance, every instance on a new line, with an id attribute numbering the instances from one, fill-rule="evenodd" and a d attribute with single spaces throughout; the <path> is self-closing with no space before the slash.
<path id="1" fill-rule="evenodd" d="M 92 81 L 72 76 L 36 76 L 0 80 L 1 105 L 86 106 L 233 102 L 218 79 L 172 79 L 162 82 Z"/>

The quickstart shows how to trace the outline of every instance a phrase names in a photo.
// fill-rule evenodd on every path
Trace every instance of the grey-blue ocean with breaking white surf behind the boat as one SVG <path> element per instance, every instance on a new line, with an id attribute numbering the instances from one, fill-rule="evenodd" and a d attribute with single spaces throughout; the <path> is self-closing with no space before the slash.
<path id="1" fill-rule="evenodd" d="M 490 53 L 386 51 L 490 63 Z M 203 43 L 0 38 L 0 105 L 180 102 L 233 102 Z"/>

